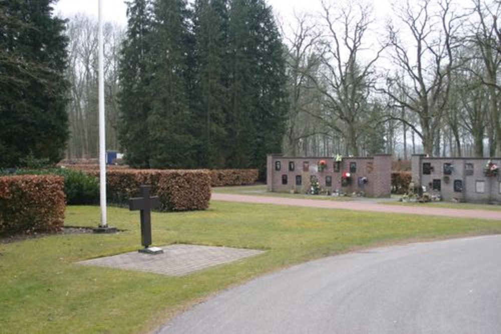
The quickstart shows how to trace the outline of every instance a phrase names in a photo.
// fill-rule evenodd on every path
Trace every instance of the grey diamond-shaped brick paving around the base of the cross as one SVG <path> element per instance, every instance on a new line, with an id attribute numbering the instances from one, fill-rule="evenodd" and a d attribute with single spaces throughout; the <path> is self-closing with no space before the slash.
<path id="1" fill-rule="evenodd" d="M 153 272 L 169 276 L 182 276 L 215 265 L 259 255 L 264 252 L 256 249 L 187 244 L 175 244 L 160 248 L 164 251 L 162 254 L 151 255 L 134 251 L 125 254 L 99 257 L 78 263 L 83 265 Z"/>

